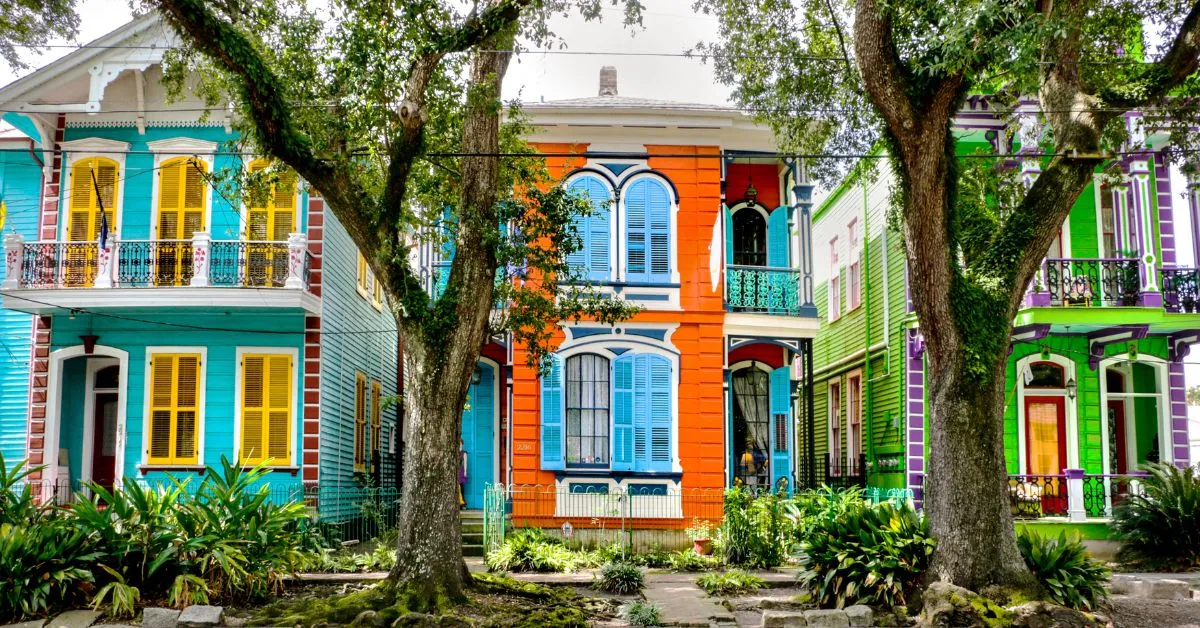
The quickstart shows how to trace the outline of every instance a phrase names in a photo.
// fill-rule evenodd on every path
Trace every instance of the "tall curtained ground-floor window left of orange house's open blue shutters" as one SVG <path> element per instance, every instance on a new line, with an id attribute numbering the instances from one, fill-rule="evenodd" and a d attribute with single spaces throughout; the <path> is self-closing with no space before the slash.
<path id="1" fill-rule="evenodd" d="M 608 465 L 608 360 L 584 353 L 566 359 L 566 463 Z"/>

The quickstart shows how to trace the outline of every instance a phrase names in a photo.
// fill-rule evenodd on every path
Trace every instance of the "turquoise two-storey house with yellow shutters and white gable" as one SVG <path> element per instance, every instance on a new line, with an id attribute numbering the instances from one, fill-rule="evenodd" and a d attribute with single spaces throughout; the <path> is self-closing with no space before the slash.
<path id="1" fill-rule="evenodd" d="M 145 16 L 0 89 L 0 453 L 60 498 L 222 457 L 286 497 L 396 488 L 382 291 L 293 174 L 250 207 L 214 183 L 269 163 L 168 102 L 173 44 Z"/>

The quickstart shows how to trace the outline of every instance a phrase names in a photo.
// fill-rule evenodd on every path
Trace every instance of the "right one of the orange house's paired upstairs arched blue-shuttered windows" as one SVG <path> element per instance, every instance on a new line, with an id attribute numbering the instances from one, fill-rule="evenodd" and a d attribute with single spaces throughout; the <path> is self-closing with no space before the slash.
<path id="1" fill-rule="evenodd" d="M 656 179 L 637 179 L 624 193 L 625 279 L 671 281 L 671 193 Z"/>

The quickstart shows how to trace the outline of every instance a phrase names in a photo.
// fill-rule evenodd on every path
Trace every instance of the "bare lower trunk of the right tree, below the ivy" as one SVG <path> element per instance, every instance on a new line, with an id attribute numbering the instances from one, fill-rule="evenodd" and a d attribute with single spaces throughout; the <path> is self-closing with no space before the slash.
<path id="1" fill-rule="evenodd" d="M 956 342 L 955 342 L 956 343 Z M 937 539 L 931 580 L 980 591 L 990 585 L 1033 591 L 1016 549 L 1004 463 L 1004 363 L 988 381 L 962 372 L 965 347 L 930 355 L 929 468 L 925 513 Z"/>

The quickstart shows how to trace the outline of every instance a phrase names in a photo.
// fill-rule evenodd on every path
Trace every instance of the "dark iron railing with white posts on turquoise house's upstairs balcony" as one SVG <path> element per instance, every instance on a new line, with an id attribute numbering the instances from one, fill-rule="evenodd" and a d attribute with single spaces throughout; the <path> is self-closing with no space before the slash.
<path id="1" fill-rule="evenodd" d="M 25 243 L 5 238 L 0 288 L 263 287 L 310 288 L 307 240 L 110 240 Z"/>

